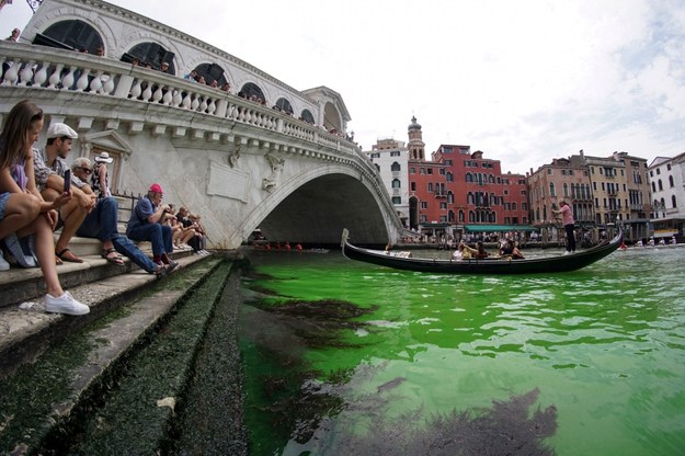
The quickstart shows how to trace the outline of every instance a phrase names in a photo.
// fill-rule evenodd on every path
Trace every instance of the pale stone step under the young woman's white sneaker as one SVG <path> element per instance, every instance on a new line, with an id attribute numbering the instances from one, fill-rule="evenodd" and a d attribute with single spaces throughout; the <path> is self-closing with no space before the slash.
<path id="1" fill-rule="evenodd" d="M 178 269 L 189 267 L 212 256 L 189 255 L 178 259 Z M 118 266 L 117 269 L 122 267 Z M 174 271 L 173 274 L 176 272 Z M 35 358 L 50 343 L 59 340 L 68 331 L 82 328 L 113 307 L 135 299 L 136 294 L 155 281 L 157 277 L 153 274 L 148 274 L 138 269 L 135 272 L 121 273 L 69 287 L 69 293 L 76 299 L 91 308 L 87 316 L 72 317 L 47 314 L 42 298 L 34 298 L 24 303 L 25 305 L 22 304 L 22 307 L 28 307 L 27 309 L 22 309 L 20 306 L 1 307 L 0 378 L 13 372 L 19 365 Z"/>

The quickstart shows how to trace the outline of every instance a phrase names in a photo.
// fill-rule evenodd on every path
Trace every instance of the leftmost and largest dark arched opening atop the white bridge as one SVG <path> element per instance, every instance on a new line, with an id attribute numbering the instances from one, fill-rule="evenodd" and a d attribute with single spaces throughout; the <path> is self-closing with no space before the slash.
<path id="1" fill-rule="evenodd" d="M 36 33 L 33 44 L 95 54 L 98 46 L 102 46 L 103 42 L 92 25 L 79 20 L 69 20 L 50 25 L 43 34 Z"/>

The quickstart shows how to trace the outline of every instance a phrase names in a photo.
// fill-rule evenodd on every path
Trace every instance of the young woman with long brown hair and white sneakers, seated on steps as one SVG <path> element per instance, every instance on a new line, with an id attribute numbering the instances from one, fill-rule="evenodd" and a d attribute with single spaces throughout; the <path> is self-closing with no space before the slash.
<path id="1" fill-rule="evenodd" d="M 33 256 L 24 258 L 19 239 L 35 236 L 35 254 L 47 287 L 45 310 L 84 315 L 89 307 L 61 288 L 55 265 L 53 227 L 57 209 L 71 198 L 71 192 L 48 203 L 35 184 L 32 146 L 43 122 L 43 111 L 28 100 L 19 102 L 4 117 L 0 132 L 0 239 L 21 265 L 31 267 L 35 266 Z"/>

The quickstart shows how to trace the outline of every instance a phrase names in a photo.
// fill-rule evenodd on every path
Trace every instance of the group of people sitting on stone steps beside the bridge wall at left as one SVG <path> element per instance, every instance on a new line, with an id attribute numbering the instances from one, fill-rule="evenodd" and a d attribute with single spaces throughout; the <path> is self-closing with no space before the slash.
<path id="1" fill-rule="evenodd" d="M 126 233 L 118 232 L 118 203 L 112 195 L 107 164 L 113 158 L 101 151 L 93 159 L 67 156 L 78 134 L 64 123 L 53 123 L 45 147 L 34 149 L 44 127 L 43 111 L 28 100 L 15 104 L 4 116 L 0 130 L 0 271 L 41 267 L 47 294 L 48 312 L 84 315 L 89 307 L 76 300 L 59 283 L 57 266 L 84 260 L 69 249 L 73 236 L 102 242 L 101 255 L 115 266 L 124 266 L 122 255 L 140 269 L 163 277 L 178 265 L 174 250 L 192 249 L 207 254 L 207 232 L 201 216 L 186 207 L 174 214 L 163 204 L 159 183 L 140 197 Z M 57 241 L 54 232 L 59 230 Z M 149 241 L 152 255 L 136 242 Z M 9 261 L 8 261 L 9 260 Z"/>

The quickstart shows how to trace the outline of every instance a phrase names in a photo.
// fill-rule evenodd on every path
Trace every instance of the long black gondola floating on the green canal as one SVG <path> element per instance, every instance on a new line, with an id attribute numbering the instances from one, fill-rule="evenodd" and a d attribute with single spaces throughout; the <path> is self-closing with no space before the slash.
<path id="1" fill-rule="evenodd" d="M 342 253 L 350 260 L 378 264 L 396 270 L 431 272 L 444 274 L 538 274 L 576 271 L 595 263 L 612 254 L 623 241 L 623 230 L 610 241 L 590 249 L 578 250 L 569 255 L 532 258 L 525 260 L 501 259 L 470 259 L 443 260 L 427 258 L 412 258 L 409 252 L 392 252 L 363 249 L 350 243 L 349 230 L 342 232 Z"/>

